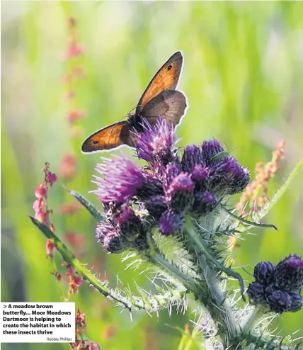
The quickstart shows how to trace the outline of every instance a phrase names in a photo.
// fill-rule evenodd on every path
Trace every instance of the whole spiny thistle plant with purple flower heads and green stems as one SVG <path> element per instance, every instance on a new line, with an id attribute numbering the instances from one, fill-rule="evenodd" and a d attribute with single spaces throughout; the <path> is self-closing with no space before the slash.
<path id="1" fill-rule="evenodd" d="M 139 296 L 130 290 L 108 288 L 107 282 L 98 281 L 59 244 L 53 232 L 33 220 L 35 225 L 47 237 L 54 237 L 58 251 L 74 271 L 78 269 L 81 277 L 128 310 L 171 312 L 173 306 L 185 310 L 187 301 L 192 300 L 197 310 L 202 310 L 200 320 L 210 320 L 201 326 L 201 346 L 296 349 L 290 339 L 280 341 L 258 324 L 270 314 L 302 308 L 303 260 L 297 254 L 277 265 L 270 261 L 256 264 L 255 280 L 246 293 L 250 305 L 241 309 L 236 301 L 245 299 L 244 281 L 227 265 L 231 261 L 228 240 L 255 224 L 232 213 L 228 202 L 248 185 L 248 169 L 225 152 L 218 140 L 189 145 L 178 152 L 176 130 L 161 118 L 156 125 L 142 120 L 142 132 L 134 134 L 137 157 L 147 166 L 139 167 L 124 155 L 96 165 L 101 176 L 94 176 L 97 188 L 93 193 L 103 213 L 79 193 L 70 193 L 98 220 L 96 237 L 108 252 L 124 253 L 124 261 L 135 256 L 138 260 L 131 264 L 136 266 L 139 261 L 149 263 L 162 282 L 153 282 L 157 294 L 139 286 Z M 262 226 L 274 227 L 256 225 Z M 130 254 L 125 256 L 126 252 Z M 229 278 L 239 283 L 240 293 L 230 290 Z"/>

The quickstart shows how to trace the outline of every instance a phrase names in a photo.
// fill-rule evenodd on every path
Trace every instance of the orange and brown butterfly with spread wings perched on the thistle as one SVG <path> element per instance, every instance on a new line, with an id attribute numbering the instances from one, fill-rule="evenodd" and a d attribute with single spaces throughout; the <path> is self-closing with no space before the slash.
<path id="1" fill-rule="evenodd" d="M 132 131 L 142 131 L 146 118 L 151 125 L 161 116 L 168 123 L 177 126 L 185 115 L 187 101 L 181 91 L 176 91 L 183 67 L 181 51 L 175 52 L 154 75 L 145 89 L 134 112 L 127 120 L 105 126 L 94 132 L 82 145 L 82 152 L 103 152 L 122 145 L 134 147 L 136 140 Z"/>

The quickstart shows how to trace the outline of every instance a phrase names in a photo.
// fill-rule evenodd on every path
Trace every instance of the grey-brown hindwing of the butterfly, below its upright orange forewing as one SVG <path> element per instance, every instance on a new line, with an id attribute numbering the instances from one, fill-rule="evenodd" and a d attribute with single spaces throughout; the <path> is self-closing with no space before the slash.
<path id="1" fill-rule="evenodd" d="M 172 123 L 174 126 L 180 123 L 187 107 L 186 98 L 181 91 L 163 91 L 149 101 L 142 109 L 141 115 L 155 124 L 159 117 Z"/>

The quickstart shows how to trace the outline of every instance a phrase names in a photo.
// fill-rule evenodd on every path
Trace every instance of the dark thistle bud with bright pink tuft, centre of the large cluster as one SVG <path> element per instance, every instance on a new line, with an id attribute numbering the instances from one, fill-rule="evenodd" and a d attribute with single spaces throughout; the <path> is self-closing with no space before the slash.
<path id="1" fill-rule="evenodd" d="M 166 201 L 173 210 L 182 212 L 191 205 L 193 201 L 193 189 L 195 184 L 187 173 L 176 176 L 166 191 Z"/>

